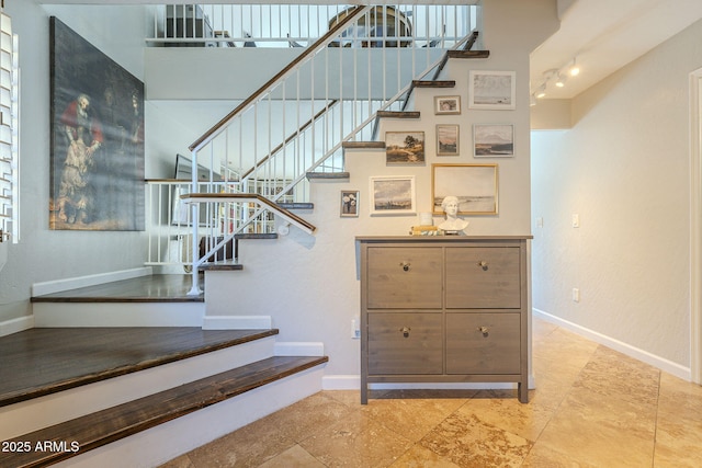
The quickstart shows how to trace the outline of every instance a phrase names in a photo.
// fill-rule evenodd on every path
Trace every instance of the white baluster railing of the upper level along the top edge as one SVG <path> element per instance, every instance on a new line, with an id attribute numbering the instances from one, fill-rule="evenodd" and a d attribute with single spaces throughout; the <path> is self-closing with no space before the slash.
<path id="1" fill-rule="evenodd" d="M 152 36 L 166 47 L 305 47 L 324 35 L 344 4 L 163 4 L 155 9 Z M 397 9 L 397 14 L 389 13 Z M 477 26 L 476 5 L 377 7 L 358 36 L 407 35 L 415 46 L 451 43 Z M 347 43 L 348 44 L 348 43 Z M 403 43 L 400 43 L 403 44 Z M 404 43 L 407 45 L 407 43 Z M 372 45 L 373 46 L 373 45 Z"/>

